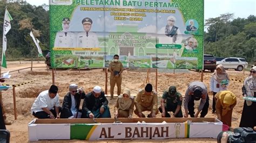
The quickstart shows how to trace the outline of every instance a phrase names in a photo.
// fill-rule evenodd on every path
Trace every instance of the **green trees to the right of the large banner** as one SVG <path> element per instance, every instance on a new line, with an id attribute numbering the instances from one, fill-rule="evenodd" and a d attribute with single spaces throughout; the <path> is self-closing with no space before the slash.
<path id="1" fill-rule="evenodd" d="M 204 53 L 223 58 L 246 58 L 248 62 L 256 60 L 256 17 L 232 19 L 233 14 L 225 13 L 205 20 L 208 27 L 204 34 Z"/>

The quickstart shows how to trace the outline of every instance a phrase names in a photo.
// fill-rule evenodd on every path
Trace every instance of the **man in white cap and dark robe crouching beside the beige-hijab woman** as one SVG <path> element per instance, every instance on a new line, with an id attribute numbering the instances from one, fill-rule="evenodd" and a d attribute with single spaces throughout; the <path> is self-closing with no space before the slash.
<path id="1" fill-rule="evenodd" d="M 102 88 L 94 87 L 93 91 L 85 95 L 82 118 L 111 118 L 107 104 L 109 101 L 107 101 Z"/>

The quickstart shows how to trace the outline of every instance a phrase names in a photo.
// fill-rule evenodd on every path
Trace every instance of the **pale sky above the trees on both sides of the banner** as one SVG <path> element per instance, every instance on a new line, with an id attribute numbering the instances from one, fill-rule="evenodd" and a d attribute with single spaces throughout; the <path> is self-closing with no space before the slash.
<path id="1" fill-rule="evenodd" d="M 31 5 L 49 4 L 49 0 L 26 0 Z M 205 19 L 215 18 L 224 13 L 234 13 L 234 18 L 256 16 L 255 0 L 205 0 Z"/>

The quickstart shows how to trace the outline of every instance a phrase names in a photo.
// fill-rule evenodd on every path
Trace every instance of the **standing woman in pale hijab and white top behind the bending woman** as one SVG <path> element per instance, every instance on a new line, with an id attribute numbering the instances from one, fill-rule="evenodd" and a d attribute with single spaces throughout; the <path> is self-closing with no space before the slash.
<path id="1" fill-rule="evenodd" d="M 214 113 L 215 110 L 215 99 L 214 96 L 219 91 L 227 90 L 228 82 L 230 81 L 230 77 L 228 77 L 228 74 L 226 73 L 226 70 L 224 69 L 223 65 L 218 65 L 212 74 L 211 77 L 211 85 L 210 85 L 210 91 L 213 95 L 212 98 L 212 113 Z"/>

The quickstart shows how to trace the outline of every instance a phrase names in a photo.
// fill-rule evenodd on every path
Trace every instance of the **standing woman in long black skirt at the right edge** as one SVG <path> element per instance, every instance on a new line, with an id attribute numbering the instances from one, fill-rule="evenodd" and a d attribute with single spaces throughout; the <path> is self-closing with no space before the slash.
<path id="1" fill-rule="evenodd" d="M 245 78 L 244 97 L 256 97 L 256 66 L 250 70 L 251 75 Z M 256 126 L 256 102 L 245 100 L 244 108 L 242 109 L 242 116 L 239 127 L 254 127 Z"/>

